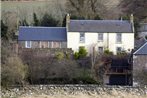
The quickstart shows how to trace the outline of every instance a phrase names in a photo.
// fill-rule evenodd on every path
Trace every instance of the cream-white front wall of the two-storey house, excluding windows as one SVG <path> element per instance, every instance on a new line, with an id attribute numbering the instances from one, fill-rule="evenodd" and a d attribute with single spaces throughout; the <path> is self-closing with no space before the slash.
<path id="1" fill-rule="evenodd" d="M 109 36 L 109 38 L 108 38 Z M 80 33 L 79 32 L 68 32 L 67 33 L 67 47 L 72 48 L 75 51 L 78 51 L 80 46 L 85 46 L 85 48 L 90 53 L 92 47 L 109 47 L 110 51 L 113 51 L 116 54 L 116 47 L 122 47 L 124 50 L 134 48 L 134 33 L 122 33 L 122 43 L 116 43 L 116 33 L 104 33 L 103 42 L 98 41 L 98 33 L 86 32 L 85 33 L 85 43 L 80 43 Z M 108 40 L 109 39 L 109 40 Z M 108 43 L 109 42 L 109 43 Z M 108 45 L 109 44 L 109 45 Z"/>

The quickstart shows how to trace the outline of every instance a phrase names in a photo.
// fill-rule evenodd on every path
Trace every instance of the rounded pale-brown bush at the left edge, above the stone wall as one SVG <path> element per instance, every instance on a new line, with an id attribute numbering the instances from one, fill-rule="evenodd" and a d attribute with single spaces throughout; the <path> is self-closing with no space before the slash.
<path id="1" fill-rule="evenodd" d="M 27 65 L 15 56 L 7 58 L 2 64 L 2 86 L 22 84 L 27 76 Z"/>

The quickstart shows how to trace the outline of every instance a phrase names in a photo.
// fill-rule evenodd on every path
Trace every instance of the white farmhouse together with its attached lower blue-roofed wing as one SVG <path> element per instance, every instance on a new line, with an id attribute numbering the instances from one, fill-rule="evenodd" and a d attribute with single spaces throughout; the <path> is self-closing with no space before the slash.
<path id="1" fill-rule="evenodd" d="M 66 27 L 19 27 L 19 46 L 22 48 L 71 48 L 83 46 L 88 53 L 105 49 L 116 54 L 134 48 L 133 15 L 127 20 L 71 20 Z"/>

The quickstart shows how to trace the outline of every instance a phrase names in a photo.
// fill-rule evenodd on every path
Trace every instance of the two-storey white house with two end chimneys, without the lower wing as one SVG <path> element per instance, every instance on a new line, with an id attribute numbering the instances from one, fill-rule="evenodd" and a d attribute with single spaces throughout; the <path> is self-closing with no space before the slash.
<path id="1" fill-rule="evenodd" d="M 134 48 L 133 15 L 126 20 L 71 20 L 66 18 L 67 48 L 78 51 L 83 46 L 88 53 L 93 47 L 98 52 L 105 49 L 116 54 L 130 52 Z"/>

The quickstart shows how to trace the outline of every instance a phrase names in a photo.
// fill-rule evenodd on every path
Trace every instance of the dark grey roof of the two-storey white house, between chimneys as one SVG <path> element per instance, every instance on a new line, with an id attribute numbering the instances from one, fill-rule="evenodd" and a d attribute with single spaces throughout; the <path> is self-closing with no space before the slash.
<path id="1" fill-rule="evenodd" d="M 70 20 L 69 32 L 132 32 L 129 21 L 124 20 Z"/>

